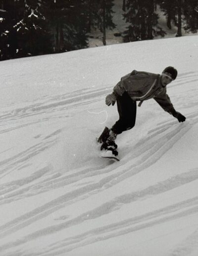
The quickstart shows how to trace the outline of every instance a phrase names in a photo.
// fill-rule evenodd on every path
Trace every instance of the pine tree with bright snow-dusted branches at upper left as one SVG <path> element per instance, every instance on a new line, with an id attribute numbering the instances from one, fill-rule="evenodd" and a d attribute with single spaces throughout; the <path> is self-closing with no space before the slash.
<path id="1" fill-rule="evenodd" d="M 21 15 L 13 26 L 17 35 L 18 57 L 50 52 L 47 19 L 43 14 L 43 0 L 18 0 Z"/>

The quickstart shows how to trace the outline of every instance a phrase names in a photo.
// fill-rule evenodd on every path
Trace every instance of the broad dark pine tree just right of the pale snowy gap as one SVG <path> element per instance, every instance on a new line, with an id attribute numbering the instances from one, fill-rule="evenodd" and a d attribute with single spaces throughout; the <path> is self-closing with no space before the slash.
<path id="1" fill-rule="evenodd" d="M 127 0 L 128 12 L 124 14 L 126 22 L 131 23 L 126 30 L 124 42 L 153 39 L 164 36 L 165 32 L 158 26 L 154 0 Z"/>

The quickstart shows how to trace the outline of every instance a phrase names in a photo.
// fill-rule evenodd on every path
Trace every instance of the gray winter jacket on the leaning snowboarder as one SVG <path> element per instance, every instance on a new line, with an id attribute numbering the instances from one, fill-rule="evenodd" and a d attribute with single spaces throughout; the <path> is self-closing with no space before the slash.
<path id="1" fill-rule="evenodd" d="M 125 91 L 134 101 L 140 101 L 139 106 L 144 100 L 153 98 L 168 113 L 175 112 L 166 93 L 166 86 L 161 84 L 160 74 L 133 70 L 123 76 L 113 88 L 115 97 L 122 96 Z"/>

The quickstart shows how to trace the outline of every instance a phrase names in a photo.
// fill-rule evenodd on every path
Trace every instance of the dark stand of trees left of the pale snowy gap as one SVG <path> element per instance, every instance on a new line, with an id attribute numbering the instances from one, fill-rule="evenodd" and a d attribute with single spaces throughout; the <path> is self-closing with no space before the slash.
<path id="1" fill-rule="evenodd" d="M 0 60 L 88 47 L 91 27 L 113 28 L 113 0 L 0 0 Z"/>

